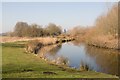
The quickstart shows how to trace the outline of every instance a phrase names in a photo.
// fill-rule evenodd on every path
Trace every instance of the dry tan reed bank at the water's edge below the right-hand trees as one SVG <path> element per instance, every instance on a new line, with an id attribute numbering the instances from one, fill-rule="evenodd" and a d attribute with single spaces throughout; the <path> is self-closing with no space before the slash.
<path id="1" fill-rule="evenodd" d="M 113 36 L 111 35 L 94 36 L 94 37 L 77 36 L 75 39 L 86 43 L 88 46 L 94 46 L 97 48 L 104 48 L 104 49 L 120 50 L 119 38 L 113 38 Z"/>

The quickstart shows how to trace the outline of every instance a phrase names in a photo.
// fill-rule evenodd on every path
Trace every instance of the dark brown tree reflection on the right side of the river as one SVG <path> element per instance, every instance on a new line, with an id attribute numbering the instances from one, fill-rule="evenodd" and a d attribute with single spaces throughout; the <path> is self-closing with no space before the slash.
<path id="1" fill-rule="evenodd" d="M 86 54 L 96 60 L 100 71 L 118 75 L 118 51 L 86 46 Z"/>

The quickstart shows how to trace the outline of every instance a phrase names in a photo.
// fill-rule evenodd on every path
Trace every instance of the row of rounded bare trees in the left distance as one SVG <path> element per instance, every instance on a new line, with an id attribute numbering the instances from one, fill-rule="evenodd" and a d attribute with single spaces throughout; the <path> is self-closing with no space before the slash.
<path id="1" fill-rule="evenodd" d="M 49 23 L 46 27 L 37 24 L 29 25 L 27 22 L 17 22 L 14 31 L 9 33 L 10 36 L 17 37 L 43 37 L 43 36 L 58 36 L 62 33 L 61 26 L 54 23 Z"/>

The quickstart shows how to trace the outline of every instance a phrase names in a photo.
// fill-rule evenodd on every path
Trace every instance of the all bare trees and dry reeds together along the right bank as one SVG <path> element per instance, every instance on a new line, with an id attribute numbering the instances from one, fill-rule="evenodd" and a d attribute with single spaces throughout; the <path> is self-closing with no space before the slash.
<path id="1" fill-rule="evenodd" d="M 71 35 L 78 36 L 78 40 L 90 45 L 113 49 L 119 49 L 118 32 L 118 4 L 100 15 L 93 27 L 75 27 L 69 31 Z"/>

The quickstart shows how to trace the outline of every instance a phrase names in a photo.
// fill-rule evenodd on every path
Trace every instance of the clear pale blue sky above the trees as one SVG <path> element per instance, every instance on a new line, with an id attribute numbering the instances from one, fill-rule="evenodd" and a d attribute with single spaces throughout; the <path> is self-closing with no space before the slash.
<path id="1" fill-rule="evenodd" d="M 55 23 L 63 29 L 92 26 L 96 18 L 112 5 L 106 2 L 4 2 L 2 32 L 13 30 L 18 21 L 43 26 Z"/>

